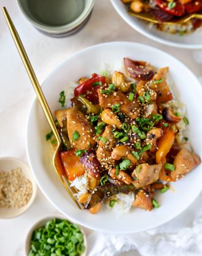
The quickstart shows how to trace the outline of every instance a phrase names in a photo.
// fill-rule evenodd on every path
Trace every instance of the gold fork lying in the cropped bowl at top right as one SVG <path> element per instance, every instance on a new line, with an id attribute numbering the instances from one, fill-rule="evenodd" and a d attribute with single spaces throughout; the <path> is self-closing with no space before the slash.
<path id="1" fill-rule="evenodd" d="M 135 13 L 135 12 L 132 12 L 131 10 L 129 10 L 128 14 L 132 15 L 138 19 L 146 20 L 147 22 L 152 22 L 152 23 L 156 23 L 156 24 L 164 24 L 164 25 L 182 24 L 182 23 L 188 22 L 188 20 L 193 19 L 193 18 L 202 20 L 202 14 L 189 14 L 179 20 L 173 20 L 173 21 L 161 23 L 158 20 L 156 20 L 154 17 L 151 17 L 150 15 L 148 15 L 146 13 Z"/>

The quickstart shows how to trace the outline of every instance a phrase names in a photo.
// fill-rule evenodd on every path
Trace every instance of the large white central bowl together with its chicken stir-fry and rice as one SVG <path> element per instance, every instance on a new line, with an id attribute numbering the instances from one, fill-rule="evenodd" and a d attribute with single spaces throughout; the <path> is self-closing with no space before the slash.
<path id="1" fill-rule="evenodd" d="M 82 210 L 54 171 L 57 142 L 37 99 L 26 150 L 39 188 L 70 220 L 105 232 L 145 231 L 200 193 L 202 92 L 179 60 L 143 44 L 98 44 L 68 57 L 42 90 L 63 141 L 61 173 Z"/>

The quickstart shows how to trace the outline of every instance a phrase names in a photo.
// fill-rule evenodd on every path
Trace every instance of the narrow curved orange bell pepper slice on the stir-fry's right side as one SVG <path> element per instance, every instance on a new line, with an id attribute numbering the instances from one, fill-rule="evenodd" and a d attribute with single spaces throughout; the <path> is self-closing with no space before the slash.
<path id="1" fill-rule="evenodd" d="M 158 151 L 156 151 L 156 163 L 163 163 L 164 159 L 166 159 L 166 155 L 171 150 L 174 139 L 175 133 L 169 128 L 165 128 L 163 137 L 160 138 L 160 141 L 157 144 Z"/>

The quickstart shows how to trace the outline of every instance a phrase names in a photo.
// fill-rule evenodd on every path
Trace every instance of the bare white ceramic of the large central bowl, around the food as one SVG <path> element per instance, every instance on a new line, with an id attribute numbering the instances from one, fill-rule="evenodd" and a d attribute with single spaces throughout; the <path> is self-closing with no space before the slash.
<path id="1" fill-rule="evenodd" d="M 156 68 L 169 66 L 169 74 L 174 83 L 174 96 L 187 104 L 190 143 L 202 158 L 200 118 L 202 88 L 199 81 L 179 60 L 144 44 L 126 42 L 98 44 L 68 57 L 42 84 L 42 90 L 52 112 L 60 109 L 58 101 L 62 90 L 68 93 L 69 99 L 71 98 L 72 89 L 68 86 L 71 81 L 77 81 L 81 76 L 90 76 L 94 72 L 99 73 L 106 68 L 106 65 L 111 70 L 121 69 L 123 57 L 145 60 Z M 91 215 L 86 210 L 77 209 L 60 183 L 47 150 L 45 135 L 49 131 L 49 125 L 39 102 L 34 99 L 28 118 L 26 150 L 38 186 L 60 212 L 87 228 L 115 233 L 134 233 L 155 228 L 183 212 L 201 191 L 202 165 L 182 180 L 172 184 L 177 191 L 176 194 L 168 191 L 157 197 L 161 205 L 159 209 L 152 212 L 133 209 L 130 213 L 124 214 L 120 220 L 117 220 L 115 214 L 105 207 L 96 215 Z"/>

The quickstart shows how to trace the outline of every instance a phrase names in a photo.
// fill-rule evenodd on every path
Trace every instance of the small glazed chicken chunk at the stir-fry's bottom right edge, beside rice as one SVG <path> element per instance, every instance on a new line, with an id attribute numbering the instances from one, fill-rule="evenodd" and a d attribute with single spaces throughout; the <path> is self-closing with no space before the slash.
<path id="1" fill-rule="evenodd" d="M 153 196 L 154 196 L 154 192 L 151 186 L 146 186 L 144 188 L 141 188 L 137 193 L 137 195 L 135 196 L 135 200 L 132 206 L 151 211 L 153 209 L 153 204 L 152 204 Z"/>

